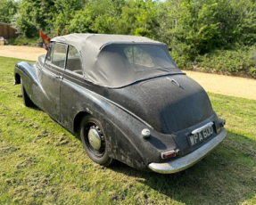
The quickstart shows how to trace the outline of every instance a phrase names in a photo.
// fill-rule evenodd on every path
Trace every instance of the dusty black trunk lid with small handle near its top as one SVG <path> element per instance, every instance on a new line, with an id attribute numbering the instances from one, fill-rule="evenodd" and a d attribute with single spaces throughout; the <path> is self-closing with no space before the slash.
<path id="1" fill-rule="evenodd" d="M 140 87 L 160 111 L 169 134 L 193 127 L 213 114 L 202 86 L 186 75 L 153 78 Z"/>

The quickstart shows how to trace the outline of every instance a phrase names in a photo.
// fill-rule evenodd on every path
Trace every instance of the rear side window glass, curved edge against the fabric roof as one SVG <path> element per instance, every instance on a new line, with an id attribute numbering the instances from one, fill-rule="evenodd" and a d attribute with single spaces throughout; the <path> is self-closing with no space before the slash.
<path id="1" fill-rule="evenodd" d="M 72 45 L 69 46 L 66 69 L 78 73 L 79 75 L 83 75 L 80 54 L 78 53 L 78 50 Z"/>

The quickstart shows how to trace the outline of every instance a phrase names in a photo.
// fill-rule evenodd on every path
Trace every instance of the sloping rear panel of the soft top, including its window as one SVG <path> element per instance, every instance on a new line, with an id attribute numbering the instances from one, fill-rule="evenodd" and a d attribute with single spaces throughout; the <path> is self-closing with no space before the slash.
<path id="1" fill-rule="evenodd" d="M 90 70 L 88 68 L 88 70 Z M 164 44 L 110 44 L 98 53 L 93 69 L 86 71 L 103 86 L 127 86 L 145 78 L 181 72 Z"/>

